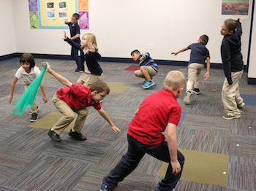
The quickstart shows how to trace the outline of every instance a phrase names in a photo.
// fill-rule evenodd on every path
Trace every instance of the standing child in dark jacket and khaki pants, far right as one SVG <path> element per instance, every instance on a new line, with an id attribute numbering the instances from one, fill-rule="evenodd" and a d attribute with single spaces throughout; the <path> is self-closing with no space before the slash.
<path id="1" fill-rule="evenodd" d="M 242 27 L 240 20 L 225 20 L 222 23 L 220 34 L 224 35 L 221 53 L 226 77 L 222 87 L 222 102 L 227 112 L 222 117 L 225 120 L 232 120 L 241 117 L 238 108 L 245 105 L 239 92 L 239 80 L 244 71 L 243 55 L 241 54 Z"/>

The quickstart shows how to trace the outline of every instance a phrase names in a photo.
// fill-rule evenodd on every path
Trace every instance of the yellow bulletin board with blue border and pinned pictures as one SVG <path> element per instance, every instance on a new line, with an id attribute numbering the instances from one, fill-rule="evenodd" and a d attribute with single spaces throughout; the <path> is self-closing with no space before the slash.
<path id="1" fill-rule="evenodd" d="M 78 12 L 78 0 L 39 0 L 38 3 L 39 28 L 68 28 L 64 21 Z"/>

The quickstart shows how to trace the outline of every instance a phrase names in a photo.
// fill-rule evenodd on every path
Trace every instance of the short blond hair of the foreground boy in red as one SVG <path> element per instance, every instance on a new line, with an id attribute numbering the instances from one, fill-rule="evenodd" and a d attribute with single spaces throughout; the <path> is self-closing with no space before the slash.
<path id="1" fill-rule="evenodd" d="M 165 77 L 165 87 L 168 89 L 178 90 L 178 88 L 184 87 L 186 83 L 185 75 L 178 70 L 169 71 Z"/>

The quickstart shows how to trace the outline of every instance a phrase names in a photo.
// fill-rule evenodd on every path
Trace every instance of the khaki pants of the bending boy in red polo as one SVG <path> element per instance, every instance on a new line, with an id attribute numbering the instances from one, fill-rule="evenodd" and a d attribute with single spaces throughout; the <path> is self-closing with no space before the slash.
<path id="1" fill-rule="evenodd" d="M 65 101 L 62 101 L 56 93 L 53 95 L 53 104 L 56 108 L 63 114 L 63 117 L 53 125 L 55 133 L 58 135 L 65 129 L 75 119 L 75 113 L 78 114 L 78 118 L 75 121 L 74 130 L 78 133 L 81 133 L 83 124 L 86 121 L 88 115 L 88 110 L 86 108 L 82 109 L 71 109 Z"/>

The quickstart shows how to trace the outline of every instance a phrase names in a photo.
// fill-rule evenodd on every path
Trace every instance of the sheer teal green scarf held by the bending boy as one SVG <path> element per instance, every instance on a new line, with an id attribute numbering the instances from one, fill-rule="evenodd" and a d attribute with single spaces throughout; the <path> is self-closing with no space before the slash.
<path id="1" fill-rule="evenodd" d="M 25 92 L 20 96 L 17 104 L 12 109 L 12 113 L 22 115 L 23 112 L 26 109 L 26 106 L 29 106 L 30 108 L 34 104 L 34 98 L 37 95 L 37 90 L 39 88 L 39 85 L 42 81 L 42 77 L 44 77 L 45 70 L 46 70 L 46 64 L 43 66 L 41 72 L 37 77 L 31 82 L 28 88 L 26 88 Z"/>

